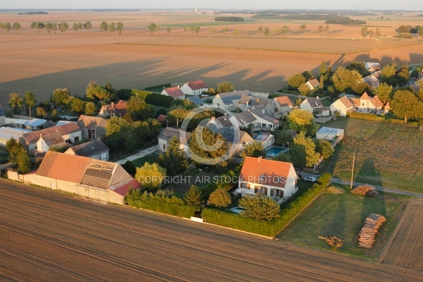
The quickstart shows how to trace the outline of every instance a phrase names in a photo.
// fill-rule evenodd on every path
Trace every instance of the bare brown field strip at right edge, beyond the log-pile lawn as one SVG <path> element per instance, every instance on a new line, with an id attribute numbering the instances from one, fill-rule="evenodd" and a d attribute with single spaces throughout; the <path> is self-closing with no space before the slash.
<path id="1" fill-rule="evenodd" d="M 423 201 L 411 200 L 396 228 L 396 235 L 383 259 L 406 269 L 423 271 Z"/>

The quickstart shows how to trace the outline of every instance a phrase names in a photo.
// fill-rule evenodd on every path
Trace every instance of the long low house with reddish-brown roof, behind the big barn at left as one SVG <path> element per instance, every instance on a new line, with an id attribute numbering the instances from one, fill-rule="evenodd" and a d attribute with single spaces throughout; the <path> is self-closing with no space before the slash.
<path id="1" fill-rule="evenodd" d="M 78 142 L 82 139 L 82 133 L 79 126 L 76 123 L 67 123 L 60 126 L 32 131 L 30 133 L 24 133 L 22 137 L 19 138 L 19 142 L 25 145 L 28 149 L 28 152 L 32 154 L 32 152 L 34 152 L 37 147 L 37 141 L 39 140 L 40 135 L 45 137 L 55 132 L 59 133 L 63 140 L 69 144 Z"/>

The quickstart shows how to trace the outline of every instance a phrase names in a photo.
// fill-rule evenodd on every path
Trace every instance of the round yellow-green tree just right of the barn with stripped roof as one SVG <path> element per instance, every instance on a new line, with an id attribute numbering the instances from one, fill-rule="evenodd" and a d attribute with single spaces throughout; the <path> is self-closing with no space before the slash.
<path id="1" fill-rule="evenodd" d="M 137 168 L 135 179 L 141 183 L 142 188 L 154 190 L 161 186 L 166 176 L 166 168 L 162 168 L 157 163 L 146 162 L 144 166 Z"/>

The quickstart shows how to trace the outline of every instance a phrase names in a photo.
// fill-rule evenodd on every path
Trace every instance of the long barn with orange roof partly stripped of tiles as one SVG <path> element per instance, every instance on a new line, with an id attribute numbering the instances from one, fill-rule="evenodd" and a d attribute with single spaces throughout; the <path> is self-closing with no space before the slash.
<path id="1" fill-rule="evenodd" d="M 57 152 L 47 152 L 37 171 L 9 178 L 116 204 L 125 203 L 130 187 L 140 187 L 119 164 Z"/>

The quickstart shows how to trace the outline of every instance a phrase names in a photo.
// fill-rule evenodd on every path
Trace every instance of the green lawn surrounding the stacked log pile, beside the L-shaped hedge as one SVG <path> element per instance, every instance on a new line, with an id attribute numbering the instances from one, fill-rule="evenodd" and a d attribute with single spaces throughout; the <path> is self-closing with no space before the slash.
<path id="1" fill-rule="evenodd" d="M 393 197 L 363 197 L 353 195 L 347 190 L 348 188 L 343 185 L 326 189 L 305 212 L 278 235 L 278 239 L 321 250 L 331 250 L 326 241 L 318 237 L 335 235 L 345 240 L 343 247 L 337 252 L 377 260 L 398 223 L 400 212 L 407 200 Z M 386 221 L 376 235 L 376 243 L 372 249 L 367 250 L 358 247 L 355 236 L 360 232 L 367 216 L 372 213 L 385 216 Z"/>

